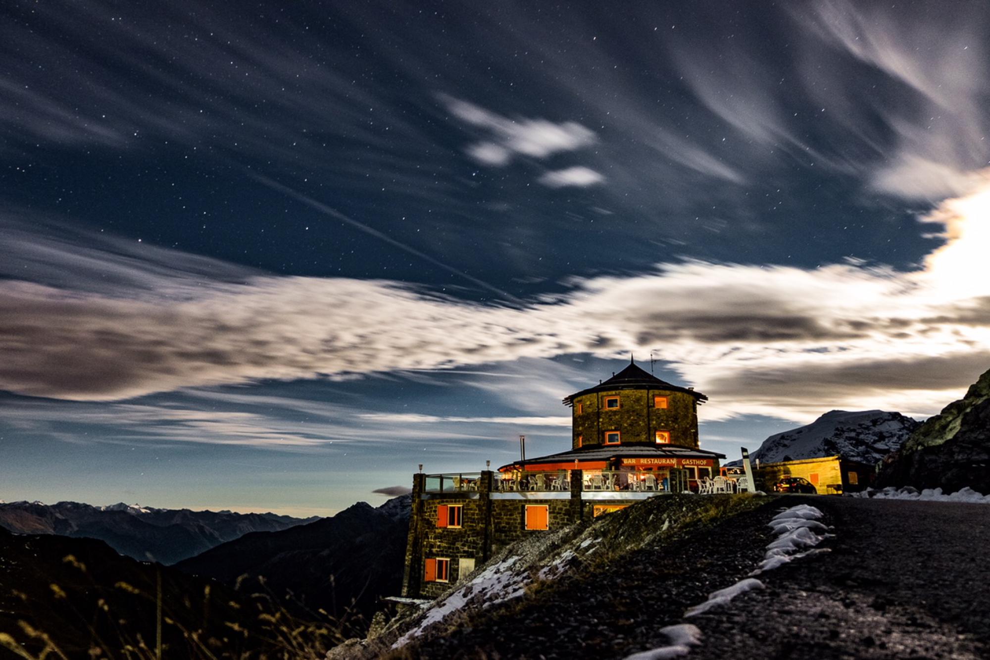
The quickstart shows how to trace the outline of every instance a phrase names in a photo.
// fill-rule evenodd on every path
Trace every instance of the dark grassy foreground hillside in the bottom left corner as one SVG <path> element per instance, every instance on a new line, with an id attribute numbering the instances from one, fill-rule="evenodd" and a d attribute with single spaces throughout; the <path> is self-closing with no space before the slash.
<path id="1" fill-rule="evenodd" d="M 0 657 L 153 657 L 159 576 L 165 658 L 315 659 L 337 635 L 103 541 L 0 529 Z M 4 635 L 30 655 L 5 650 Z"/>

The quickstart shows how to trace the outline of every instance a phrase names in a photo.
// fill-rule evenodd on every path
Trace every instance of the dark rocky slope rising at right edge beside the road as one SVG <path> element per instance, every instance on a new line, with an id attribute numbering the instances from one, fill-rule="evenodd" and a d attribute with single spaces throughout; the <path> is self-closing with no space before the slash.
<path id="1" fill-rule="evenodd" d="M 888 457 L 876 485 L 990 493 L 990 371 Z"/>

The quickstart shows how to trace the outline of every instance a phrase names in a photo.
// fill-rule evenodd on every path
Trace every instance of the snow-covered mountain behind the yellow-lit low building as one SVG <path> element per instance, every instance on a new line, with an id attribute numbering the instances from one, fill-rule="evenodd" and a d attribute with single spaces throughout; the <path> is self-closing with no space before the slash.
<path id="1" fill-rule="evenodd" d="M 831 410 L 807 426 L 771 435 L 749 458 L 775 463 L 839 455 L 874 464 L 900 449 L 919 425 L 900 412 Z"/>

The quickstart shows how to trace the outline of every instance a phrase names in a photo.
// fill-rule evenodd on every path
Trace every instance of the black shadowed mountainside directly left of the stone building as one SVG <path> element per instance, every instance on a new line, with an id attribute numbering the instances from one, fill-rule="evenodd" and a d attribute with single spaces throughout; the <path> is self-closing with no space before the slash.
<path id="1" fill-rule="evenodd" d="M 263 578 L 287 604 L 353 619 L 356 629 L 381 596 L 402 589 L 410 497 L 378 508 L 358 502 L 330 518 L 278 532 L 255 532 L 176 564 L 186 573 L 233 585 Z"/>

